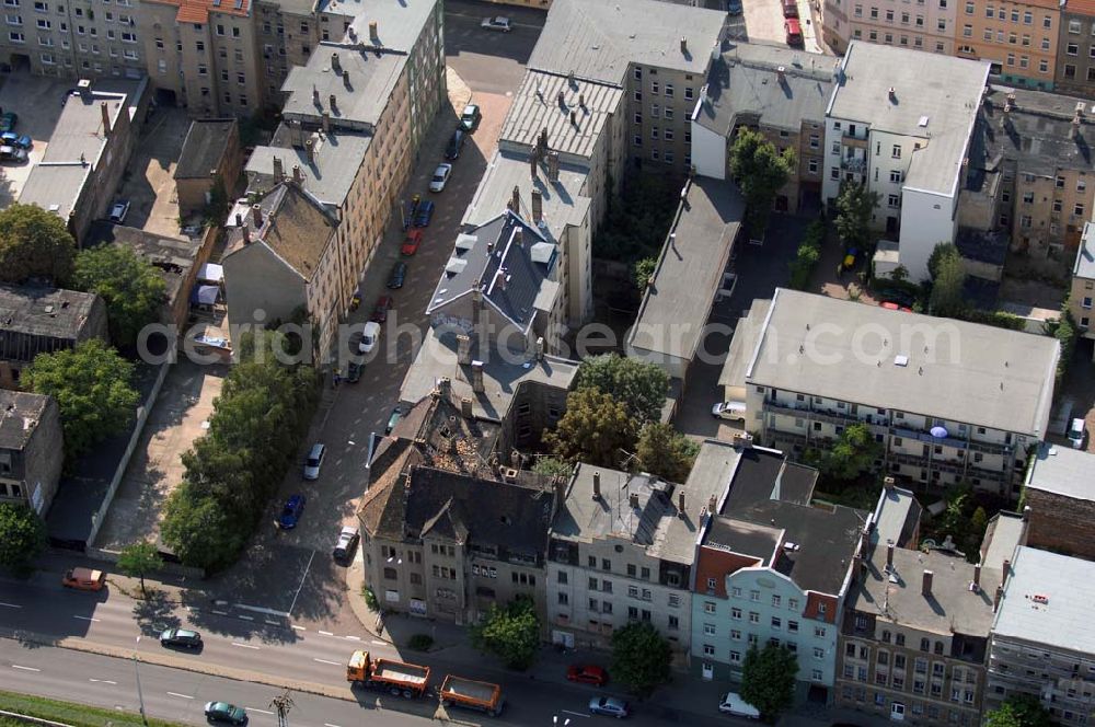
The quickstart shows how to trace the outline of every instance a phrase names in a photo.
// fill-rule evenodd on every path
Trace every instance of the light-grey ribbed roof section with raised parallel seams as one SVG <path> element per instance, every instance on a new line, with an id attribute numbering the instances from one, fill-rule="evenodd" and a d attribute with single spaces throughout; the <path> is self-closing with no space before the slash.
<path id="1" fill-rule="evenodd" d="M 591 158 L 606 123 L 620 109 L 622 97 L 619 85 L 585 79 L 570 82 L 561 73 L 530 69 L 517 89 L 498 140 L 532 147 L 541 131 L 548 129 L 551 149 Z"/>

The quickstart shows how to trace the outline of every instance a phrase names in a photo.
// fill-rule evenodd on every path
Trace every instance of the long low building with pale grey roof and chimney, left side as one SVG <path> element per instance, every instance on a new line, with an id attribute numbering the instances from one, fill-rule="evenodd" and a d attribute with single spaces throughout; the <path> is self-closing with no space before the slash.
<path id="1" fill-rule="evenodd" d="M 78 245 L 92 220 L 106 217 L 137 143 L 134 124 L 142 118 L 142 102 L 132 95 L 92 90 L 87 79 L 79 85 L 19 195 L 20 204 L 65 220 Z"/>

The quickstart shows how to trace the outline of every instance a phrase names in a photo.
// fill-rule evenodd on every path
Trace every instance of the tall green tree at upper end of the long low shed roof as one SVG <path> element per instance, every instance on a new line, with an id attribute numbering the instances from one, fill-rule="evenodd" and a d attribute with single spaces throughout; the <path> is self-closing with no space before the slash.
<path id="1" fill-rule="evenodd" d="M 751 129 L 741 129 L 730 148 L 730 172 L 746 198 L 746 219 L 754 236 L 764 232 L 775 195 L 795 171 L 795 152 L 782 154 L 771 141 Z"/>

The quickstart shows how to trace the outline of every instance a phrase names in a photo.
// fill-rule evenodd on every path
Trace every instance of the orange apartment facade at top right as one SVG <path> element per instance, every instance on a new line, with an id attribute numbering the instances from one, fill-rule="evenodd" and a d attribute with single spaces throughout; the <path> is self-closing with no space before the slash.
<path id="1" fill-rule="evenodd" d="M 987 60 L 994 81 L 1052 91 L 1061 10 L 1058 0 L 960 0 L 959 58 Z"/>

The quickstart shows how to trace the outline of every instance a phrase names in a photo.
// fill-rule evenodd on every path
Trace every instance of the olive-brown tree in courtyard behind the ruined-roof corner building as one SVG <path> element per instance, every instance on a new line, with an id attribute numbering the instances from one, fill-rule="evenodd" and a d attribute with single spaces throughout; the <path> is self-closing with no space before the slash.
<path id="1" fill-rule="evenodd" d="M 566 413 L 544 442 L 555 457 L 567 462 L 583 461 L 598 466 L 616 466 L 620 450 L 635 446 L 635 419 L 612 394 L 598 389 L 579 389 L 566 397 Z"/>

